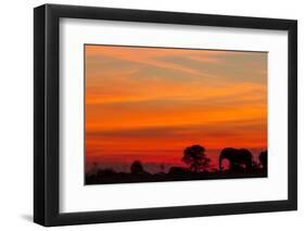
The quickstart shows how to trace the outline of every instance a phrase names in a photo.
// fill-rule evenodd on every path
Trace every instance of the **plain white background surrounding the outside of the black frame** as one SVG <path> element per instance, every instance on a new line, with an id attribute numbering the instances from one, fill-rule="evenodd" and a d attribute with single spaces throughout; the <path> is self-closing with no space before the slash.
<path id="1" fill-rule="evenodd" d="M 54 228 L 55 230 L 301 230 L 305 227 L 304 1 L 58 0 L 49 3 L 298 20 L 298 211 Z M 33 214 L 33 8 L 40 0 L 2 1 L 0 24 L 0 229 L 41 230 Z M 303 92 L 302 92 L 303 91 Z"/>

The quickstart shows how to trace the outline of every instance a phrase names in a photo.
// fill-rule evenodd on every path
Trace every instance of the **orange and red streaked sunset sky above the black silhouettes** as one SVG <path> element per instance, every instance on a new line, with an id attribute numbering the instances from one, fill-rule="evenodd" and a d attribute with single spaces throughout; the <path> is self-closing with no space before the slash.
<path id="1" fill-rule="evenodd" d="M 267 53 L 85 46 L 86 166 L 153 171 L 200 144 L 267 149 Z"/>

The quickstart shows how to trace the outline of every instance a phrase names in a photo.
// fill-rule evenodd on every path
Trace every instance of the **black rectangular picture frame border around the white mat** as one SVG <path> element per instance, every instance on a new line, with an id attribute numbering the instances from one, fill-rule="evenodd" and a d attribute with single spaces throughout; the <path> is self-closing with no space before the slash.
<path id="1" fill-rule="evenodd" d="M 122 210 L 59 210 L 59 23 L 88 18 L 176 25 L 287 30 L 288 52 L 288 200 Z M 178 12 L 45 4 L 34 10 L 34 221 L 46 227 L 295 210 L 297 208 L 297 22 Z"/>

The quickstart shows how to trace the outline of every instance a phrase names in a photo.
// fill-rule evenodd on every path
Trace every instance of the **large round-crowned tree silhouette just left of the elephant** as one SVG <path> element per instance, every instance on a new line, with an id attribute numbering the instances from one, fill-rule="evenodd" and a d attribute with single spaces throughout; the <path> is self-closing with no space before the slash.
<path id="1" fill-rule="evenodd" d="M 192 145 L 185 149 L 182 162 L 189 165 L 190 170 L 199 172 L 209 167 L 211 159 L 205 155 L 205 149 L 201 145 Z"/>

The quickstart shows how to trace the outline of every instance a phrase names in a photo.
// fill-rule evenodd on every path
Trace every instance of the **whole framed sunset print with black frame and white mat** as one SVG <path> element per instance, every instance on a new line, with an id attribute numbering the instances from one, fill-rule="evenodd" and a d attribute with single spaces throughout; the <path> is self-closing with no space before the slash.
<path id="1" fill-rule="evenodd" d="M 297 23 L 34 10 L 34 220 L 294 210 Z"/>

